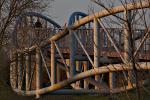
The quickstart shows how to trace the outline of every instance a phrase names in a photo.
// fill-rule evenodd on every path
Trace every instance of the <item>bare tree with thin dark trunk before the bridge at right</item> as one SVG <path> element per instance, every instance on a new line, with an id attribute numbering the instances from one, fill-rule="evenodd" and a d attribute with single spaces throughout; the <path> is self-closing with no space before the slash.
<path id="1" fill-rule="evenodd" d="M 139 2 L 139 4 L 142 7 L 142 1 L 143 0 L 91 0 L 92 2 L 96 3 L 98 6 L 101 7 L 101 9 L 107 10 L 111 15 L 98 19 L 101 27 L 105 30 L 105 32 L 111 33 L 108 28 L 120 28 L 122 30 L 122 37 L 124 38 L 124 41 L 121 43 L 124 49 L 124 57 L 122 60 L 123 63 L 125 63 L 127 66 L 130 66 L 133 68 L 132 72 L 128 72 L 129 79 L 131 86 L 133 86 L 133 81 L 136 84 L 137 89 L 137 97 L 140 100 L 141 99 L 141 92 L 140 88 L 143 87 L 140 84 L 140 75 L 138 73 L 137 67 L 138 61 L 136 54 L 140 53 L 143 49 L 144 52 L 148 52 L 148 46 L 149 46 L 149 27 L 150 22 L 148 20 L 148 16 L 150 14 L 149 8 L 147 9 L 134 9 L 134 10 L 127 10 L 127 4 L 132 3 L 136 8 L 136 3 Z M 150 2 L 149 0 L 147 0 Z M 113 14 L 113 11 L 111 8 L 115 7 L 116 5 L 123 5 L 124 12 L 119 14 Z M 94 12 L 93 12 L 94 13 Z M 138 33 L 137 31 L 141 31 Z M 143 30 L 143 32 L 142 32 Z M 114 47 L 118 44 L 118 39 L 116 37 L 113 37 L 112 34 L 110 34 L 113 39 Z M 116 49 L 119 50 L 121 46 L 117 46 Z M 140 51 L 140 52 L 139 52 Z M 139 59 L 139 58 L 138 58 Z M 130 63 L 130 65 L 129 65 Z M 139 66 L 138 66 L 139 67 Z"/>

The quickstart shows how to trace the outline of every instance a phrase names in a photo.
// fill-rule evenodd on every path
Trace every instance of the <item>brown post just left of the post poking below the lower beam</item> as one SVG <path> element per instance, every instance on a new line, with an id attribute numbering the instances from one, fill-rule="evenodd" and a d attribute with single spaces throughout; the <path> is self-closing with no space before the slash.
<path id="1" fill-rule="evenodd" d="M 29 91 L 29 80 L 31 74 L 31 55 L 26 53 L 26 91 Z"/>

